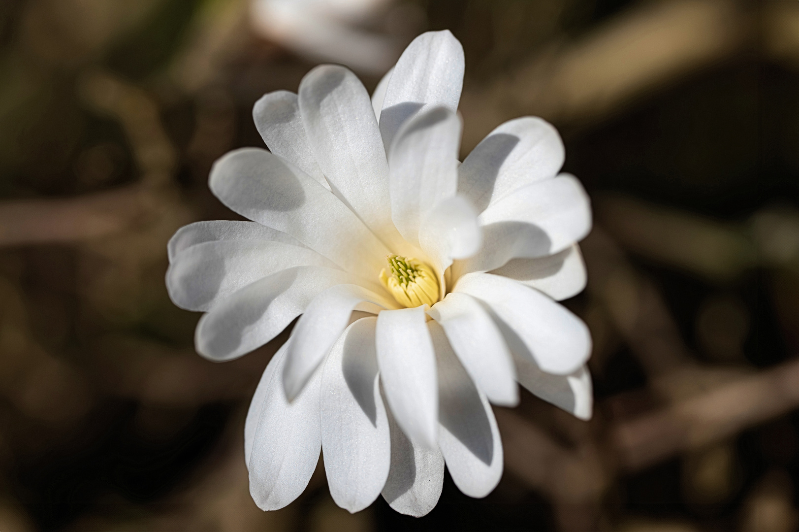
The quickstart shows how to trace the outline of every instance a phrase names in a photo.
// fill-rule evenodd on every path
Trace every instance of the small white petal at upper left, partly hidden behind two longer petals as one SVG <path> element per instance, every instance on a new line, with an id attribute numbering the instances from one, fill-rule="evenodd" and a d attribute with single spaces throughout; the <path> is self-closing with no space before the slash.
<path id="1" fill-rule="evenodd" d="M 288 90 L 264 94 L 252 106 L 252 120 L 269 151 L 292 162 L 330 190 L 305 134 L 296 94 Z"/>

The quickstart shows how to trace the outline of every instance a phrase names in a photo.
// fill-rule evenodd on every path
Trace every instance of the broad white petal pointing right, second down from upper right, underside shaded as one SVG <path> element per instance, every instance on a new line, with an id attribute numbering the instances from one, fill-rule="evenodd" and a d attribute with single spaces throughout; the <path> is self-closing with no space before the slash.
<path id="1" fill-rule="evenodd" d="M 459 274 L 565 250 L 590 231 L 590 202 L 580 182 L 562 174 L 516 190 L 484 210 L 479 222 L 485 244 L 458 265 Z"/>

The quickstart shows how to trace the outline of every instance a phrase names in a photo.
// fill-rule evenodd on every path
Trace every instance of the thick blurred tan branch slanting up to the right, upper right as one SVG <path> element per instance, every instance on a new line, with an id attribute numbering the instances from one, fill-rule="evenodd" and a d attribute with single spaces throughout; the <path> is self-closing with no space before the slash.
<path id="1" fill-rule="evenodd" d="M 461 100 L 468 152 L 519 113 L 552 122 L 590 122 L 637 94 L 690 74 L 740 49 L 749 18 L 736 2 L 645 3 L 577 42 L 554 45 Z"/>

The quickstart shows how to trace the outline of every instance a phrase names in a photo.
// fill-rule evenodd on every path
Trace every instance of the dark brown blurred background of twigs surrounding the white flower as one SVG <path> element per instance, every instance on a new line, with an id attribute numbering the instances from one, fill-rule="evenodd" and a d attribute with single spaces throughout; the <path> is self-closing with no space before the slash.
<path id="1" fill-rule="evenodd" d="M 318 62 L 371 90 L 424 30 L 467 72 L 463 154 L 538 115 L 589 191 L 595 414 L 496 409 L 503 480 L 421 519 L 350 515 L 324 469 L 248 494 L 243 425 L 285 333 L 193 350 L 166 242 L 263 146 L 252 104 Z M 799 526 L 799 2 L 2 0 L 0 530 Z"/>

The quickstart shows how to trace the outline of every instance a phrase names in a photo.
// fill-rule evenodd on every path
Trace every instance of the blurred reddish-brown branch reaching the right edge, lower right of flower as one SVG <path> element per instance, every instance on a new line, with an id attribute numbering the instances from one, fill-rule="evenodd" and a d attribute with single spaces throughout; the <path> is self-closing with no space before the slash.
<path id="1" fill-rule="evenodd" d="M 623 468 L 640 469 L 718 442 L 799 406 L 799 361 L 718 386 L 664 410 L 622 422 L 610 435 Z"/>

